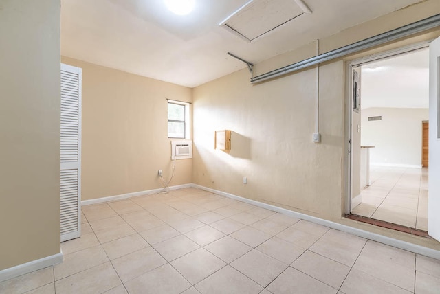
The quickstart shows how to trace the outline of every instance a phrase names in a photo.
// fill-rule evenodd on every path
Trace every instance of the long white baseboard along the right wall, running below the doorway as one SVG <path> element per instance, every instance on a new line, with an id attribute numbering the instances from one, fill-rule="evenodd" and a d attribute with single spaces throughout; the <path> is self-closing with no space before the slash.
<path id="1" fill-rule="evenodd" d="M 243 201 L 245 203 L 250 203 L 250 204 L 253 204 L 253 205 L 256 205 L 256 206 L 259 206 L 259 207 L 263 207 L 263 208 L 265 208 L 267 210 L 272 210 L 274 212 L 280 212 L 282 214 L 286 214 L 286 215 L 292 216 L 294 218 L 300 218 L 300 219 L 303 219 L 303 220 L 308 220 L 311 223 L 316 223 L 318 225 L 324 225 L 326 227 L 330 227 L 331 229 L 337 229 L 338 231 L 345 231 L 345 232 L 347 232 L 349 234 L 353 234 L 355 236 L 360 236 L 362 238 L 366 238 L 366 239 L 370 239 L 370 240 L 373 240 L 373 241 L 381 242 L 383 244 L 390 245 L 390 246 L 393 246 L 393 247 L 396 247 L 396 248 L 400 248 L 400 249 L 404 249 L 404 250 L 407 250 L 407 251 L 411 251 L 411 252 L 414 252 L 414 253 L 417 253 L 417 254 L 421 254 L 423 256 L 428 256 L 430 258 L 440 259 L 440 251 L 434 250 L 434 249 L 430 249 L 428 247 L 423 247 L 423 246 L 420 246 L 420 245 L 412 244 L 410 242 L 405 242 L 405 241 L 397 240 L 395 238 L 390 238 L 390 237 L 382 236 L 380 234 L 371 233 L 370 231 L 364 231 L 363 229 L 357 229 L 355 227 L 349 227 L 348 225 L 342 225 L 340 223 L 335 223 L 335 222 L 333 222 L 331 220 L 325 220 L 325 219 L 322 219 L 322 218 L 317 218 L 315 216 L 309 216 L 308 214 L 302 214 L 300 212 L 294 212 L 292 210 L 287 210 L 287 209 L 282 208 L 282 207 L 277 207 L 277 206 L 274 206 L 274 205 L 270 205 L 270 204 L 267 204 L 267 203 L 262 203 L 262 202 L 255 201 L 255 200 L 252 200 L 252 199 L 243 198 L 241 196 L 236 196 L 234 194 L 229 194 L 229 193 L 222 192 L 222 191 L 219 191 L 219 190 L 214 190 L 214 189 L 211 189 L 211 188 L 207 188 L 207 187 L 204 187 L 202 185 L 192 184 L 192 187 L 199 188 L 199 189 L 202 189 L 202 190 L 206 190 L 206 191 L 209 191 L 209 192 L 212 192 L 212 193 L 215 193 L 215 194 L 219 194 L 219 195 L 222 195 L 222 196 L 226 196 L 226 197 L 229 197 L 229 198 L 232 198 L 232 199 L 236 199 L 236 200 L 239 200 L 239 201 Z"/>

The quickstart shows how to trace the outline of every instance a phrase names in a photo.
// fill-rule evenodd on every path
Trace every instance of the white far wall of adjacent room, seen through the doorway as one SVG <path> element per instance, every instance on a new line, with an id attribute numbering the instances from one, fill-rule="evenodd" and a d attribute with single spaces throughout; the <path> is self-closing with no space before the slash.
<path id="1" fill-rule="evenodd" d="M 362 145 L 375 146 L 371 163 L 421 166 L 421 122 L 428 118 L 429 109 L 362 109 Z"/>

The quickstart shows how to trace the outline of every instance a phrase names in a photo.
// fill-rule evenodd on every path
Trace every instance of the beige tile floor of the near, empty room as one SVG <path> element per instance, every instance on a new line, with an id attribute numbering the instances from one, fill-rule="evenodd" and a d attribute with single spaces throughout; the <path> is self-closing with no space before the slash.
<path id="1" fill-rule="evenodd" d="M 83 207 L 0 293 L 439 293 L 440 261 L 195 188 Z"/>

